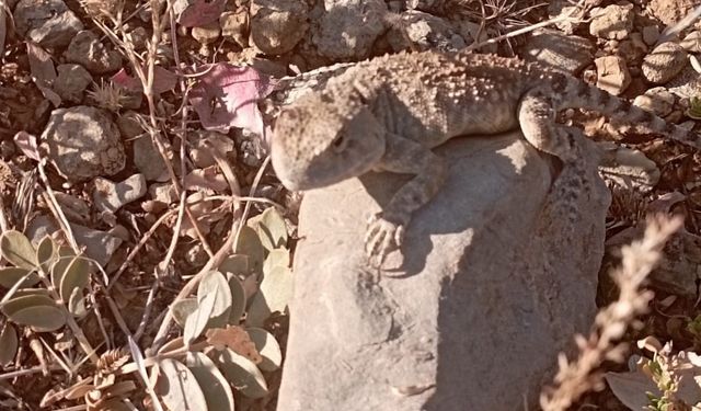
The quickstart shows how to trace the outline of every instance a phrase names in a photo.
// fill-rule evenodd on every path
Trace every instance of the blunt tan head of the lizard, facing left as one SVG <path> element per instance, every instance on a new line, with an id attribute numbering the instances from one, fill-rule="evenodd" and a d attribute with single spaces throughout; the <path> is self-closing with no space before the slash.
<path id="1" fill-rule="evenodd" d="M 275 123 L 273 168 L 288 190 L 335 184 L 380 161 L 384 134 L 363 99 L 307 94 Z"/>

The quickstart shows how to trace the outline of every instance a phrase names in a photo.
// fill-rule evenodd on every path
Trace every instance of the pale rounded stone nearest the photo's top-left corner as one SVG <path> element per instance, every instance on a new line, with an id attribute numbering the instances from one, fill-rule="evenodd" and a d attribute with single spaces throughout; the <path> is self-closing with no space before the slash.
<path id="1" fill-rule="evenodd" d="M 65 47 L 83 30 L 62 0 L 21 0 L 13 16 L 18 33 L 43 47 Z"/>

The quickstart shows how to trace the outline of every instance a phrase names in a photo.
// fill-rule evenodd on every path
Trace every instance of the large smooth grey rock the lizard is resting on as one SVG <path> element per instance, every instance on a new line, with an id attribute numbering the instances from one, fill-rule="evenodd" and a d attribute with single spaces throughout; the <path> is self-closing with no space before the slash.
<path id="1" fill-rule="evenodd" d="M 564 168 L 551 187 L 558 161 L 518 133 L 438 149 L 447 184 L 391 272 L 365 265 L 365 221 L 405 176 L 307 193 L 278 410 L 533 409 L 596 310 L 610 198 L 582 144 L 588 190 L 575 204 L 561 198 L 581 173 Z"/>

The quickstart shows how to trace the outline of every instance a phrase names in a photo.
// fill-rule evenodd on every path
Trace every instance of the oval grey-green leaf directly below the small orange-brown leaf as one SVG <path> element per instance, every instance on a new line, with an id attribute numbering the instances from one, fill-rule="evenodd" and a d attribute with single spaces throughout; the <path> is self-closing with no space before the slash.
<path id="1" fill-rule="evenodd" d="M 251 359 L 231 349 L 220 351 L 216 359 L 227 380 L 241 393 L 253 399 L 267 396 L 265 378 Z"/>

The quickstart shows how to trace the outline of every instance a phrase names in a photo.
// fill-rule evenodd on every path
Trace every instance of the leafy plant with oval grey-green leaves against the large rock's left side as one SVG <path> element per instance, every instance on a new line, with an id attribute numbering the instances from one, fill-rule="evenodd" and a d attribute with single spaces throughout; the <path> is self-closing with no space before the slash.
<path id="1" fill-rule="evenodd" d="M 156 392 L 169 408 L 187 398 L 197 409 L 233 409 L 231 385 L 251 399 L 267 396 L 264 373 L 277 370 L 283 354 L 261 327 L 285 312 L 291 296 L 287 239 L 283 217 L 266 209 L 249 220 L 219 270 L 205 274 L 196 296 L 172 305 L 183 335 L 160 350 L 168 359 L 152 370 L 159 375 Z"/>

